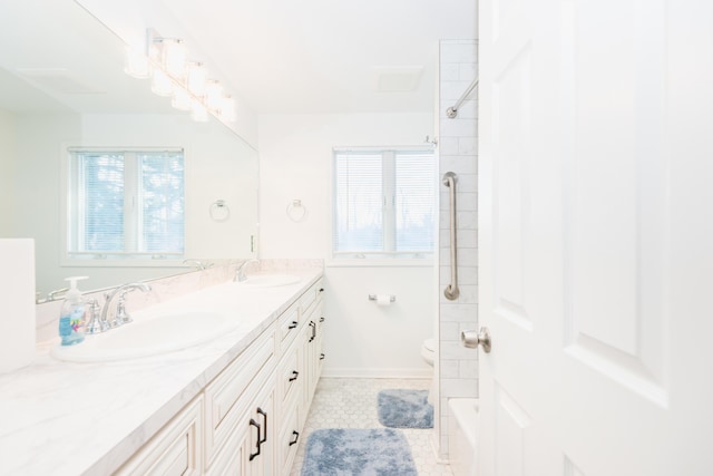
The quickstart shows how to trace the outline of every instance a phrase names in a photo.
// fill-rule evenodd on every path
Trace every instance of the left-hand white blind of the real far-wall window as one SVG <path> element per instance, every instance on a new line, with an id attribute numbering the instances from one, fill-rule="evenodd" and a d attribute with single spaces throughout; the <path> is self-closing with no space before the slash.
<path id="1" fill-rule="evenodd" d="M 383 250 L 382 156 L 374 152 L 335 152 L 334 250 Z"/>

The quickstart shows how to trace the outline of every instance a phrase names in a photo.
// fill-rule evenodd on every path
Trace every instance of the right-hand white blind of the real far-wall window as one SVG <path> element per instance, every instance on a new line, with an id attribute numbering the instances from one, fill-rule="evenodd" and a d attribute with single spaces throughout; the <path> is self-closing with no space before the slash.
<path id="1" fill-rule="evenodd" d="M 397 150 L 395 249 L 430 253 L 436 245 L 434 158 L 430 150 Z"/>

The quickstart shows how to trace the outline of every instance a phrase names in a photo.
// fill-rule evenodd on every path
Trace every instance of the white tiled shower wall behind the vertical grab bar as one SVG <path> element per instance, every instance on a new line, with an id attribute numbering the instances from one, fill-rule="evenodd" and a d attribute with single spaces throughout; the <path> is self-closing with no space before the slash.
<path id="1" fill-rule="evenodd" d="M 477 41 L 443 40 L 440 45 L 439 157 L 440 175 L 455 172 L 457 191 L 458 283 L 455 301 L 442 290 L 450 283 L 450 203 L 449 188 L 440 195 L 440 303 L 439 359 L 437 376 L 440 418 L 434 436 L 439 456 L 448 457 L 448 399 L 478 396 L 478 352 L 460 343 L 460 331 L 478 327 L 478 108 L 477 88 L 451 119 L 446 110 L 453 106 L 477 77 Z"/>

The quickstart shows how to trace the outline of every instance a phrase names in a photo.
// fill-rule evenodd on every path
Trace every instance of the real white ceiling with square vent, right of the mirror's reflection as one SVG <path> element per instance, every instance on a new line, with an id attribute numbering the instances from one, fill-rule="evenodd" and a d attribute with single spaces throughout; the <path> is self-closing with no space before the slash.
<path id="1" fill-rule="evenodd" d="M 258 114 L 431 113 L 438 41 L 477 0 L 164 0 Z"/>

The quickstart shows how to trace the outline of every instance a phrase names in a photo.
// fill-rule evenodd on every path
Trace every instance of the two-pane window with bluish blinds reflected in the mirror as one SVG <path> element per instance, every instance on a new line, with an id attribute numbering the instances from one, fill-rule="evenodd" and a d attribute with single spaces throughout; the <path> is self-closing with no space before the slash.
<path id="1" fill-rule="evenodd" d="M 69 259 L 183 256 L 182 149 L 70 149 L 68 185 Z"/>

